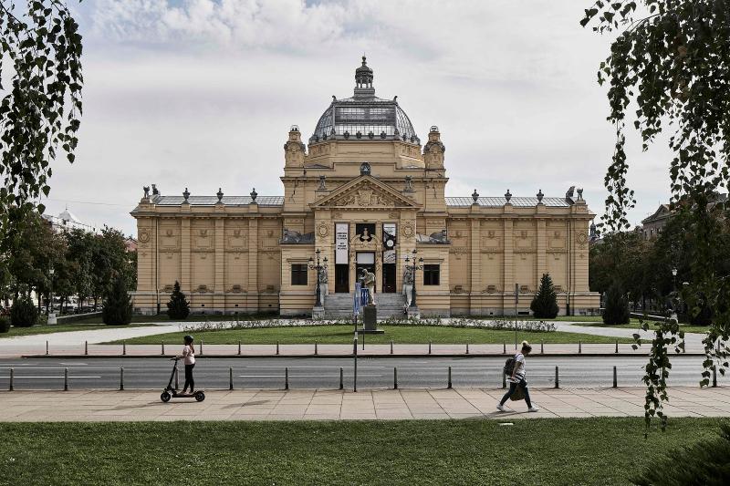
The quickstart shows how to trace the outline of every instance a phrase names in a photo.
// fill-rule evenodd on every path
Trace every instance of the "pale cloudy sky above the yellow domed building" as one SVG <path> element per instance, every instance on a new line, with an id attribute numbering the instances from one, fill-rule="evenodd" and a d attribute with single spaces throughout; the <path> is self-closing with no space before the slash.
<path id="1" fill-rule="evenodd" d="M 70 2 L 69 2 L 70 3 Z M 447 147 L 447 195 L 562 196 L 601 213 L 614 137 L 596 68 L 609 37 L 576 0 L 88 0 L 77 161 L 46 202 L 136 234 L 142 186 L 163 194 L 282 194 L 289 126 L 305 137 L 351 96 L 363 52 L 381 98 L 398 95 Z M 663 145 L 632 137 L 633 222 L 669 197 Z"/>

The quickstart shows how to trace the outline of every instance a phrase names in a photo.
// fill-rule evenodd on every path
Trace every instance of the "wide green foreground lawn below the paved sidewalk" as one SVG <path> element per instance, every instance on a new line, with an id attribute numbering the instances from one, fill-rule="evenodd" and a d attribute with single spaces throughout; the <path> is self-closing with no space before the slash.
<path id="1" fill-rule="evenodd" d="M 630 484 L 718 419 L 0 424 L 0 484 Z M 183 479 L 184 478 L 184 479 Z"/>

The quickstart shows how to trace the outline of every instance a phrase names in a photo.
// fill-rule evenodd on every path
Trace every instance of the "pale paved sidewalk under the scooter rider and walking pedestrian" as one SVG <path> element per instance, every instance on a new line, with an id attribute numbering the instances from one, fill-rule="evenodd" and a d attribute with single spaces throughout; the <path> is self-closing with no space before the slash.
<path id="1" fill-rule="evenodd" d="M 527 419 L 643 417 L 644 388 L 533 388 L 540 408 L 524 401 L 495 405 L 501 388 L 340 390 L 208 390 L 203 402 L 172 399 L 160 390 L 0 392 L 1 421 L 137 420 L 349 420 L 349 419 Z M 730 417 L 730 388 L 670 389 L 671 417 Z"/>

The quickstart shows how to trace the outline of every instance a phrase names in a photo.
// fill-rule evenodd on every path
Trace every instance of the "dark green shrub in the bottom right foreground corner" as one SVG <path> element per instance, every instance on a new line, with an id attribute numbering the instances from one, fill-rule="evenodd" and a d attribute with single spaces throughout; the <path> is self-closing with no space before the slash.
<path id="1" fill-rule="evenodd" d="M 685 484 L 730 484 L 730 424 L 720 424 L 720 437 L 704 439 L 692 447 L 671 450 L 662 460 L 652 461 L 639 478 L 640 486 Z"/>

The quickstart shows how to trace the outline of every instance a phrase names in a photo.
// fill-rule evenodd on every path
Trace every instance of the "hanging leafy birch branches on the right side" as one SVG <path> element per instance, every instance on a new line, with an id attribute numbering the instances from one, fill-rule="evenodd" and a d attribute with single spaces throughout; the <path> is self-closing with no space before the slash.
<path id="1" fill-rule="evenodd" d="M 687 215 L 694 231 L 693 280 L 688 295 L 704 295 L 713 324 L 704 339 L 706 359 L 701 383 L 712 367 L 725 373 L 725 343 L 730 335 L 730 279 L 716 274 L 716 234 L 711 212 L 713 192 L 730 182 L 730 0 L 596 1 L 585 10 L 582 26 L 615 33 L 610 55 L 600 63 L 599 83 L 609 82 L 609 121 L 616 145 L 606 173 L 609 191 L 604 222 L 612 231 L 629 227 L 627 211 L 635 203 L 626 183 L 629 171 L 626 123 L 635 107 L 633 127 L 648 150 L 665 126 L 672 127 L 669 175 L 673 208 Z M 669 122 L 669 123 L 667 123 Z M 695 309 L 698 310 L 699 309 Z M 682 349 L 676 323 L 659 326 L 652 340 L 643 380 L 647 385 L 646 422 L 666 418 L 668 349 Z"/>

